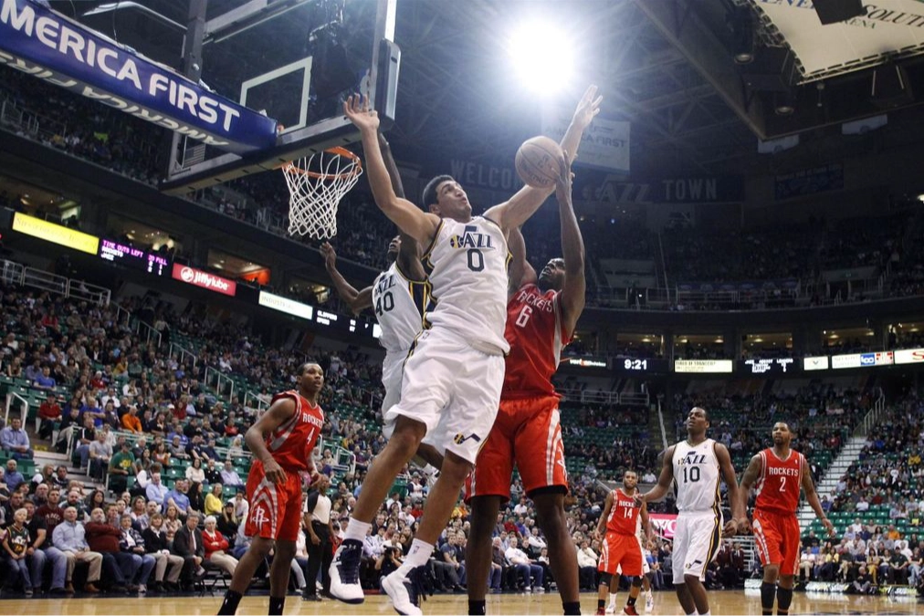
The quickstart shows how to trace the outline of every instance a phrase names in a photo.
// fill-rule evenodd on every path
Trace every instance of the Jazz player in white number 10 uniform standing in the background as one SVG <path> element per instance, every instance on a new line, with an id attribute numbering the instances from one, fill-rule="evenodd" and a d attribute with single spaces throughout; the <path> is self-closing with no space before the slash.
<path id="1" fill-rule="evenodd" d="M 667 448 L 658 485 L 639 497 L 641 502 L 660 501 L 674 485 L 679 512 L 674 535 L 674 588 L 687 616 L 710 616 L 709 596 L 702 582 L 707 565 L 722 544 L 720 471 L 728 486 L 733 518 L 724 532 L 734 535 L 748 525 L 744 507 L 738 501 L 732 457 L 722 443 L 706 438 L 707 429 L 706 410 L 699 406 L 690 409 L 687 440 Z"/>

